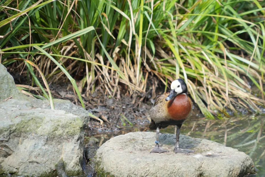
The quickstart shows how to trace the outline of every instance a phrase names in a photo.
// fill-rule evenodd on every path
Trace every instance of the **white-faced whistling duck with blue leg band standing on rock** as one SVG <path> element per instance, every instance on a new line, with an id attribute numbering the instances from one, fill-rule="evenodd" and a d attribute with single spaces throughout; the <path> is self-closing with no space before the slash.
<path id="1" fill-rule="evenodd" d="M 192 111 L 192 101 L 187 96 L 188 89 L 183 79 L 177 79 L 171 83 L 171 91 L 160 95 L 150 109 L 150 117 L 152 119 L 149 125 L 150 130 L 156 130 L 156 146 L 150 152 L 168 152 L 159 146 L 158 136 L 161 128 L 166 128 L 169 125 L 176 125 L 176 145 L 175 153 L 194 152 L 193 150 L 181 149 L 179 146 L 180 128 L 183 122 L 189 118 Z"/>

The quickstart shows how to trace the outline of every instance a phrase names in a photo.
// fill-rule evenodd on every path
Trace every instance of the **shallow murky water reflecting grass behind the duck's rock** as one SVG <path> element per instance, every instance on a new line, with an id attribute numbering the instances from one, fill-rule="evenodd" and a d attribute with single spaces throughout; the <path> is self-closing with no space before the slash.
<path id="1" fill-rule="evenodd" d="M 205 138 L 228 147 L 237 148 L 239 151 L 248 154 L 256 168 L 256 176 L 265 176 L 265 115 L 263 116 L 245 116 L 238 118 L 224 118 L 223 120 L 206 120 L 204 118 L 190 118 L 182 128 L 180 134 L 191 136 L 193 138 Z M 99 146 L 104 142 L 128 132 L 153 131 L 149 130 L 148 124 L 122 127 L 117 134 L 112 132 L 94 132 L 100 140 Z M 155 130 L 154 130 L 155 131 Z M 160 130 L 161 133 L 175 134 L 175 126 L 168 126 Z M 154 137 L 155 139 L 155 137 Z M 255 176 L 255 175 L 254 175 Z"/>

